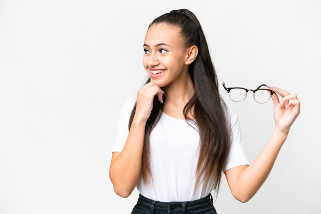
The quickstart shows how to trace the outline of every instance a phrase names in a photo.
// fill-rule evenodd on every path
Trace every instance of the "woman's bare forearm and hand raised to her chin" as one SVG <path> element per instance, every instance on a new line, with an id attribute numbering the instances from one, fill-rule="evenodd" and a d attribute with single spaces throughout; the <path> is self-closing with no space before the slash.
<path id="1" fill-rule="evenodd" d="M 122 152 L 112 155 L 109 177 L 119 196 L 128 197 L 141 177 L 145 126 L 155 95 L 163 101 L 163 91 L 153 82 L 138 90 L 136 111 L 125 146 Z"/>

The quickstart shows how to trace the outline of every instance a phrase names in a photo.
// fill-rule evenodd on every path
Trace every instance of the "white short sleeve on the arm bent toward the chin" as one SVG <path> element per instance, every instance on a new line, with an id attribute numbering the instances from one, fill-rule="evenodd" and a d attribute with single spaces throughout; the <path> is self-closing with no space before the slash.
<path id="1" fill-rule="evenodd" d="M 136 98 L 128 99 L 123 103 L 121 110 L 119 111 L 116 142 L 113 146 L 112 152 L 122 152 L 125 146 L 129 133 L 128 122 L 135 103 Z"/>

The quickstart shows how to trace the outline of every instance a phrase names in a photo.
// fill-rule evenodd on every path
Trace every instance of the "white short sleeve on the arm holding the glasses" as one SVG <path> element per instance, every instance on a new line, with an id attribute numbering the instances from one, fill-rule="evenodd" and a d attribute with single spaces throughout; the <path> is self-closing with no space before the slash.
<path id="1" fill-rule="evenodd" d="M 232 142 L 230 146 L 230 152 L 228 154 L 227 162 L 223 171 L 236 166 L 249 165 L 249 160 L 247 159 L 242 142 L 242 133 L 240 129 L 240 124 L 236 112 L 228 107 L 230 125 L 232 129 Z"/>

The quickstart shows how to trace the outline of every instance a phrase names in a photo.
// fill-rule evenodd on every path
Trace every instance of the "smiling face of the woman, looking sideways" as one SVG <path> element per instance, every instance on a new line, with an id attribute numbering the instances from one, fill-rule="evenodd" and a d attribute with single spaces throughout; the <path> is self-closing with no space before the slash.
<path id="1" fill-rule="evenodd" d="M 186 81 L 187 57 L 179 28 L 163 23 L 150 26 L 144 41 L 143 65 L 152 82 L 165 87 Z"/>

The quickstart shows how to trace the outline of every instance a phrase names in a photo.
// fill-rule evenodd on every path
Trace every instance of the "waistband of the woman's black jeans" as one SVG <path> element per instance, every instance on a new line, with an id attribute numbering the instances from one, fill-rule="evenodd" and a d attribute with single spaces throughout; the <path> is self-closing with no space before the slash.
<path id="1" fill-rule="evenodd" d="M 166 213 L 185 213 L 193 210 L 199 210 L 202 207 L 213 207 L 213 198 L 209 194 L 207 197 L 183 202 L 159 202 L 148 199 L 139 194 L 137 204 L 149 207 L 151 213 L 154 212 L 166 212 Z"/>

